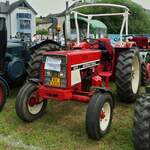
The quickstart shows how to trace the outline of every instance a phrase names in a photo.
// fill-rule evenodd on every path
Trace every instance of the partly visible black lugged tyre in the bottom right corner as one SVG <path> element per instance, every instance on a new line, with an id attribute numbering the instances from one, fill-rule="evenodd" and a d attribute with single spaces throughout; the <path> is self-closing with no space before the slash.
<path id="1" fill-rule="evenodd" d="M 150 95 L 141 96 L 136 101 L 133 142 L 135 150 L 150 149 Z"/>

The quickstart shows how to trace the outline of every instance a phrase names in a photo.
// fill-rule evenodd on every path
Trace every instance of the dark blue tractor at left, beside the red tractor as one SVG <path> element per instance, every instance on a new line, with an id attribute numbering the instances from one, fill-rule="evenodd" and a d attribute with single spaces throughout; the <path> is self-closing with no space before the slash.
<path id="1" fill-rule="evenodd" d="M 60 50 L 53 40 L 45 40 L 28 47 L 22 40 L 8 40 L 5 18 L 0 17 L 0 111 L 2 110 L 9 87 L 21 85 L 26 78 L 39 78 L 42 53 Z"/>

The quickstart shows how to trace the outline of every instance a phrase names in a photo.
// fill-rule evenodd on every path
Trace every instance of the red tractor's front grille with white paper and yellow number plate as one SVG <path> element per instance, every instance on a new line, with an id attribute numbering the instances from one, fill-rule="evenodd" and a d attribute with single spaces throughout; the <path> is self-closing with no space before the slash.
<path id="1" fill-rule="evenodd" d="M 44 83 L 52 87 L 67 86 L 67 60 L 64 55 L 48 55 L 45 62 Z"/>

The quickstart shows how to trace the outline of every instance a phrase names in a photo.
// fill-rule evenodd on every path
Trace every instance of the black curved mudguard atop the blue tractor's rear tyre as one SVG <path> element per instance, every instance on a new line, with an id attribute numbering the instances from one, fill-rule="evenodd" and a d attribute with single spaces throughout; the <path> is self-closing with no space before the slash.
<path id="1" fill-rule="evenodd" d="M 41 41 L 33 46 L 30 47 L 30 50 L 35 50 L 35 49 L 38 49 L 40 48 L 41 46 L 45 45 L 45 44 L 49 44 L 49 43 L 52 43 L 52 44 L 55 44 L 55 45 L 58 45 L 59 47 L 61 47 L 61 45 L 56 42 L 56 41 L 53 41 L 53 40 L 44 40 L 44 41 Z"/>

